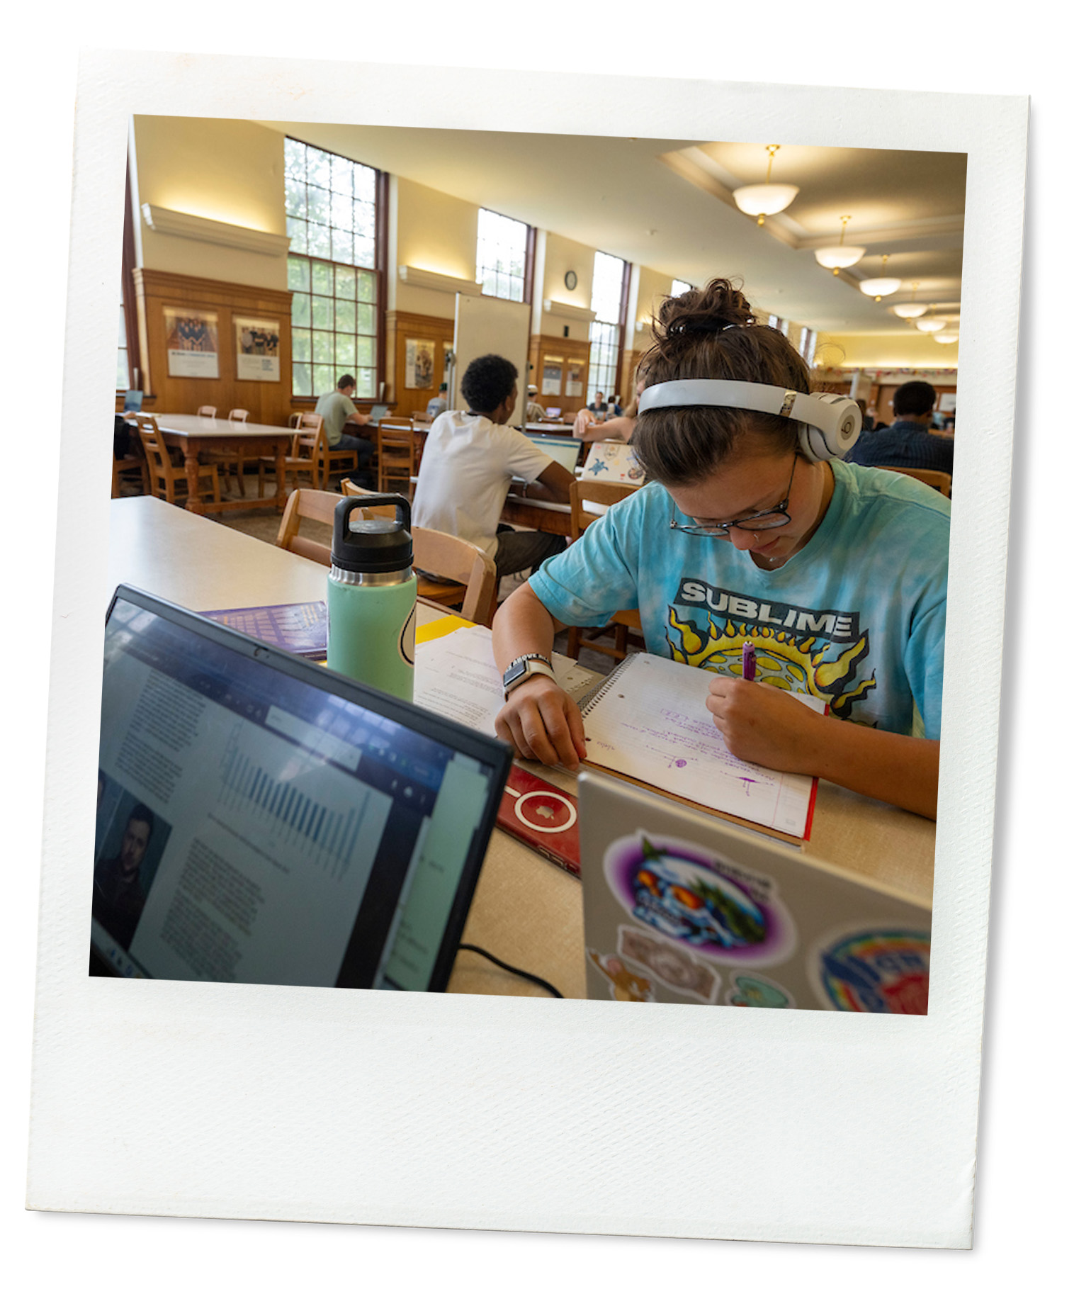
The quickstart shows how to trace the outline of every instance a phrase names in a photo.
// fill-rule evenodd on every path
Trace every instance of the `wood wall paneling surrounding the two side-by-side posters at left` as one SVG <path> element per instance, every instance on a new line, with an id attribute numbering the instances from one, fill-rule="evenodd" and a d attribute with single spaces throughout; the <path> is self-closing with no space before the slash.
<path id="1" fill-rule="evenodd" d="M 215 405 L 221 418 L 230 409 L 248 409 L 251 422 L 286 426 L 291 413 L 291 294 L 214 278 L 193 278 L 154 269 L 135 269 L 138 335 L 142 339 L 142 389 L 148 408 L 162 413 L 197 413 Z M 219 378 L 168 375 L 164 307 L 214 311 L 220 336 Z M 252 316 L 279 321 L 279 380 L 241 382 L 236 377 L 233 318 Z M 118 402 L 122 409 L 122 400 Z"/>

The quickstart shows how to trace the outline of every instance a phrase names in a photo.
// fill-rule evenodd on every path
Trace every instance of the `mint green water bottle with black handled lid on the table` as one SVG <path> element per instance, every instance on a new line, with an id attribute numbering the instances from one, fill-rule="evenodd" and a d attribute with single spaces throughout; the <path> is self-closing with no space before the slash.
<path id="1" fill-rule="evenodd" d="M 395 520 L 351 515 L 395 505 Z M 410 505 L 401 494 L 342 498 L 333 521 L 329 572 L 329 669 L 414 700 L 414 617 Z"/>

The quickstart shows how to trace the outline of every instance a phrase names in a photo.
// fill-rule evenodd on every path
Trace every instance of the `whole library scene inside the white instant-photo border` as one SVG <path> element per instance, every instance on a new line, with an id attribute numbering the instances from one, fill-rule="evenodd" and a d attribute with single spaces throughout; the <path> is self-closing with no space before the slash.
<path id="1" fill-rule="evenodd" d="M 925 1013 L 965 176 L 132 118 L 91 973 Z"/>

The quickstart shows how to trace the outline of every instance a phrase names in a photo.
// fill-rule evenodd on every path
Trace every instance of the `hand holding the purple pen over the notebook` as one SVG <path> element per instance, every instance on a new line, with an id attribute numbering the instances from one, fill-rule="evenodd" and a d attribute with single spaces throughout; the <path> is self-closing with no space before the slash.
<path id="1" fill-rule="evenodd" d="M 815 773 L 827 719 L 770 683 L 716 674 L 705 709 L 739 760 L 782 773 Z"/>

